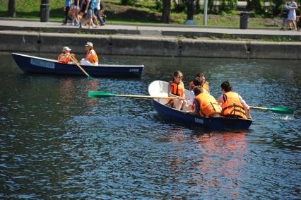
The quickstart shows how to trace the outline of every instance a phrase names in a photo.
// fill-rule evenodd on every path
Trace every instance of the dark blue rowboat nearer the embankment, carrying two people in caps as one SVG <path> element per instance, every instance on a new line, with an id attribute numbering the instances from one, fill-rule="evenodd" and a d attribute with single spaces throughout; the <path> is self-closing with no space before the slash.
<path id="1" fill-rule="evenodd" d="M 13 59 L 24 72 L 33 73 L 59 73 L 85 76 L 75 64 L 62 64 L 54 59 L 32 57 L 25 54 L 13 53 Z M 99 66 L 85 66 L 83 69 L 90 76 L 122 76 L 122 77 L 141 77 L 143 65 L 113 65 L 100 64 Z"/>

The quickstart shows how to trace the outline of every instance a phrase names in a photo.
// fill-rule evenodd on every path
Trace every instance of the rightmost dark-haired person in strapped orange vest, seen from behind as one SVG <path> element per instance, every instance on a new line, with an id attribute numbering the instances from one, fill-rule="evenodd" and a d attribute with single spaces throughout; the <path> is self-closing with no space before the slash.
<path id="1" fill-rule="evenodd" d="M 252 119 L 249 106 L 239 94 L 232 92 L 232 86 L 229 81 L 224 81 L 220 86 L 223 95 L 220 96 L 218 102 L 222 107 L 223 116 Z"/>

